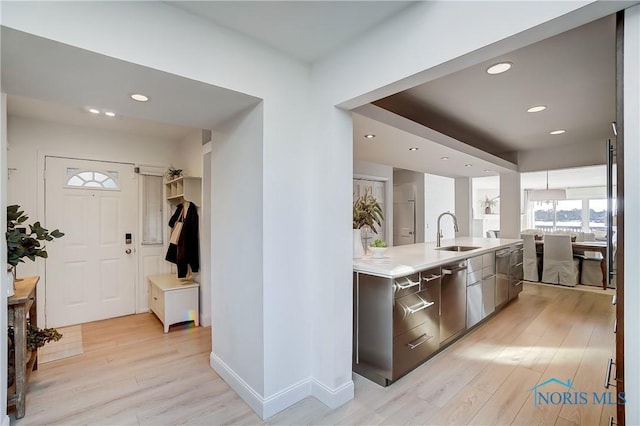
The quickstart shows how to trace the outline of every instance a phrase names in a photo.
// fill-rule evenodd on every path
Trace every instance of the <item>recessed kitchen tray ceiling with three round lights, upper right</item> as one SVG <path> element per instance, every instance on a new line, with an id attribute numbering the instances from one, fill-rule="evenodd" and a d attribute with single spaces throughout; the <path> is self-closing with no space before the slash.
<path id="1" fill-rule="evenodd" d="M 376 105 L 502 158 L 612 138 L 615 16 L 414 87 Z M 511 70 L 489 75 L 497 62 Z M 539 113 L 529 107 L 545 105 Z M 564 129 L 562 135 L 550 135 Z M 603 163 L 604 163 L 603 157 Z"/>

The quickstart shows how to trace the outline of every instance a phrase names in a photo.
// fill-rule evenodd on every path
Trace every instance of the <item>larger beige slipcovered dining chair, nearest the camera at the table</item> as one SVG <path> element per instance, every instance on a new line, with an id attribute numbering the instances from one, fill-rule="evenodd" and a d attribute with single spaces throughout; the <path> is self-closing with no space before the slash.
<path id="1" fill-rule="evenodd" d="M 570 235 L 544 236 L 542 282 L 574 287 L 580 276 L 580 261 L 573 257 Z"/>

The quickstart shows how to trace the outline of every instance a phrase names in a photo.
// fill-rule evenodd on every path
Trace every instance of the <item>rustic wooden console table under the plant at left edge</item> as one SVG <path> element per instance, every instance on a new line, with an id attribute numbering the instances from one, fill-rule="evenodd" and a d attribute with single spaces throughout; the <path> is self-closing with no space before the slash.
<path id="1" fill-rule="evenodd" d="M 15 294 L 7 299 L 9 325 L 14 331 L 14 353 L 16 379 L 7 392 L 7 405 L 16 407 L 16 418 L 24 417 L 25 394 L 31 370 L 38 369 L 38 351 L 27 359 L 27 318 L 32 324 L 38 323 L 36 285 L 40 277 L 28 277 L 15 283 Z M 28 314 L 28 315 L 27 315 Z"/>

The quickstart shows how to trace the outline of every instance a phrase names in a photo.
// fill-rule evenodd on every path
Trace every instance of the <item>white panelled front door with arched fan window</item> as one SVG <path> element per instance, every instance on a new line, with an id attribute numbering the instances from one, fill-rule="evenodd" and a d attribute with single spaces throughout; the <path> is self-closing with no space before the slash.
<path id="1" fill-rule="evenodd" d="M 133 165 L 46 157 L 45 169 L 45 226 L 65 233 L 48 250 L 47 326 L 133 314 Z"/>

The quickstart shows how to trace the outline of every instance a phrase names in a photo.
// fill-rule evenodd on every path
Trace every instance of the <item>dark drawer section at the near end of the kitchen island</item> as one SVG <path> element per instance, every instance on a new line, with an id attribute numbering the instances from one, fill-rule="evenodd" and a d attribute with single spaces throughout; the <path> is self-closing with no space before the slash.
<path id="1" fill-rule="evenodd" d="M 397 279 L 354 274 L 353 369 L 383 386 L 439 348 L 440 268 Z"/>

